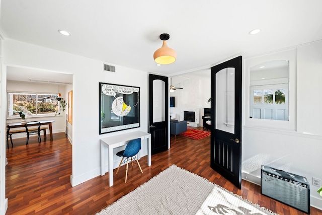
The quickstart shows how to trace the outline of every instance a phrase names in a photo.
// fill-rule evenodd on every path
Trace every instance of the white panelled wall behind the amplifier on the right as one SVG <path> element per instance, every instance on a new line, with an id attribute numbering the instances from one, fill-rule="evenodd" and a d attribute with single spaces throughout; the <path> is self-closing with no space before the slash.
<path id="1" fill-rule="evenodd" d="M 287 52 L 259 57 L 271 59 Z M 322 179 L 322 99 L 318 95 L 322 92 L 322 42 L 299 46 L 291 52 L 295 63 L 293 69 L 290 66 L 290 121 L 249 119 L 244 108 L 243 178 L 259 184 L 262 164 L 304 176 L 311 185 L 311 205 L 321 209 L 322 197 L 316 192 L 319 187 L 312 185 L 312 177 Z M 245 67 L 243 78 L 248 77 L 247 73 Z M 249 87 L 244 84 L 243 88 L 246 107 Z"/>

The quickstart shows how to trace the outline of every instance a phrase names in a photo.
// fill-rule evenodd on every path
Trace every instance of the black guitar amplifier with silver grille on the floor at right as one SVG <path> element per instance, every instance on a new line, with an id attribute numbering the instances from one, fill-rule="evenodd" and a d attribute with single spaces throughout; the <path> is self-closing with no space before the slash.
<path id="1" fill-rule="evenodd" d="M 262 165 L 261 193 L 310 213 L 310 185 L 303 176 Z"/>

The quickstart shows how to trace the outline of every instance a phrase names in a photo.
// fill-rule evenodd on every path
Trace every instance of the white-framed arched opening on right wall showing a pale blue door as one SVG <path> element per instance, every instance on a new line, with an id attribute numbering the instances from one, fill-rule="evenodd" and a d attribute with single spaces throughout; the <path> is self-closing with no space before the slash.
<path id="1" fill-rule="evenodd" d="M 279 50 L 270 54 L 244 58 L 243 123 L 245 127 L 296 131 L 298 116 L 296 51 L 296 48 Z M 257 88 L 257 86 L 262 87 Z M 263 90 L 261 95 L 257 95 L 258 98 L 263 98 L 264 90 L 269 89 L 273 90 L 273 97 L 279 96 L 279 93 L 276 93 L 277 89 L 285 89 L 285 92 L 281 90 L 285 94 L 285 103 L 278 99 L 273 99 L 275 103 L 254 102 L 254 90 Z"/>

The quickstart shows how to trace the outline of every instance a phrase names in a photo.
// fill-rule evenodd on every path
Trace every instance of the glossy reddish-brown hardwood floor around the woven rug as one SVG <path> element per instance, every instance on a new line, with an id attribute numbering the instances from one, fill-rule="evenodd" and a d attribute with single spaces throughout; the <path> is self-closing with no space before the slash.
<path id="1" fill-rule="evenodd" d="M 143 174 L 137 166 L 129 166 L 125 183 L 125 167 L 117 175 L 114 170 L 112 187 L 108 186 L 108 174 L 71 187 L 71 145 L 64 133 L 49 139 L 38 144 L 36 137 L 31 137 L 29 146 L 24 145 L 25 138 L 14 139 L 14 148 L 7 150 L 6 214 L 95 214 L 173 164 L 279 214 L 305 214 L 261 195 L 260 187 L 250 182 L 243 180 L 238 190 L 213 171 L 210 136 L 200 140 L 171 136 L 171 149 L 153 155 L 150 167 L 147 157 L 141 158 Z M 311 207 L 311 214 L 322 215 L 322 211 Z"/>

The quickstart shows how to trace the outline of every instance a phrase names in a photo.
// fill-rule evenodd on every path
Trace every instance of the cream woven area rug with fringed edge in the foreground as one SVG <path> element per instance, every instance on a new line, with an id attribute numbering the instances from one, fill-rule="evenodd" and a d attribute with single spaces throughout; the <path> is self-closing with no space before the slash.
<path id="1" fill-rule="evenodd" d="M 172 165 L 96 215 L 275 214 Z"/>

